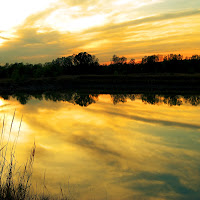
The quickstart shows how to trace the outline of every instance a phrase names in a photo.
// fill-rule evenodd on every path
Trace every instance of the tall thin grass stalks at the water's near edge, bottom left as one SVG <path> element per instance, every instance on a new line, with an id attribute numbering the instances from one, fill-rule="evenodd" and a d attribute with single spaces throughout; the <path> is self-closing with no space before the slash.
<path id="1" fill-rule="evenodd" d="M 43 192 L 37 194 L 33 192 L 33 186 L 31 178 L 33 175 L 33 163 L 36 153 L 36 144 L 34 142 L 30 151 L 30 156 L 25 164 L 22 164 L 19 169 L 16 167 L 15 150 L 17 140 L 20 135 L 20 129 L 22 125 L 22 118 L 20 121 L 18 134 L 11 144 L 11 133 L 13 123 L 15 119 L 15 112 L 10 124 L 10 130 L 6 142 L 5 137 L 5 116 L 2 121 L 2 131 L 0 138 L 0 199 L 1 200 L 75 200 L 76 198 L 72 194 L 65 195 L 64 191 L 60 187 L 60 194 L 58 197 L 53 197 L 48 191 L 45 184 L 45 174 L 43 183 Z M 10 147 L 10 148 L 9 148 Z"/>

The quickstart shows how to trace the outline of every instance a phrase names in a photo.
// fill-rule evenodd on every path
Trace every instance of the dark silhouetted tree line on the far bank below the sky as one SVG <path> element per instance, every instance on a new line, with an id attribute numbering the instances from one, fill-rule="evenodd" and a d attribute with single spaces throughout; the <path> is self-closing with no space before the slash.
<path id="1" fill-rule="evenodd" d="M 55 77 L 77 74 L 125 75 L 134 73 L 200 73 L 200 56 L 183 59 L 180 54 L 145 56 L 137 63 L 135 59 L 113 55 L 110 64 L 99 64 L 98 58 L 87 52 L 57 58 L 45 64 L 13 63 L 0 66 L 1 79 L 15 81 L 27 78 Z"/>

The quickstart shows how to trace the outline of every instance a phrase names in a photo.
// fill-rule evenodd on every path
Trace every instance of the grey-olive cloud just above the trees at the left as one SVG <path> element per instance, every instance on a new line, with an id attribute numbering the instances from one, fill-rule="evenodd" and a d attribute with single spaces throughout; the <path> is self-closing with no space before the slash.
<path id="1" fill-rule="evenodd" d="M 73 35 L 53 30 L 41 33 L 37 28 L 23 28 L 17 35 L 18 38 L 5 42 L 0 48 L 1 61 L 47 62 L 70 54 L 78 44 Z"/>

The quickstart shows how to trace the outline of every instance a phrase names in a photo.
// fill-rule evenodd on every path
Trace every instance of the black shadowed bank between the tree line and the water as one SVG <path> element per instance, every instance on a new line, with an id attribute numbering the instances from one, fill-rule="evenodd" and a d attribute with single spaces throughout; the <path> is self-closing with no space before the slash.
<path id="1" fill-rule="evenodd" d="M 0 93 L 81 90 L 93 93 L 198 94 L 200 74 L 66 75 L 0 81 Z"/>

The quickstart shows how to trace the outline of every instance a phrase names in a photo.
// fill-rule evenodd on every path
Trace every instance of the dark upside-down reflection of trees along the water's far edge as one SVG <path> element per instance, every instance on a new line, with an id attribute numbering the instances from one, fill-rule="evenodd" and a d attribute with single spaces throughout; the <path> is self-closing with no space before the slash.
<path id="1" fill-rule="evenodd" d="M 76 93 L 76 92 L 46 92 L 41 94 L 24 94 L 17 93 L 14 95 L 0 95 L 5 100 L 10 97 L 16 98 L 22 105 L 27 104 L 32 98 L 42 101 L 66 101 L 73 103 L 74 105 L 80 105 L 87 107 L 98 101 L 99 94 L 86 94 L 86 93 Z M 118 103 L 125 103 L 127 100 L 135 101 L 135 99 L 141 99 L 142 102 L 156 105 L 156 104 L 168 104 L 170 106 L 180 106 L 184 103 L 197 106 L 200 104 L 200 95 L 157 95 L 157 94 L 110 94 L 112 102 L 114 105 Z"/>

